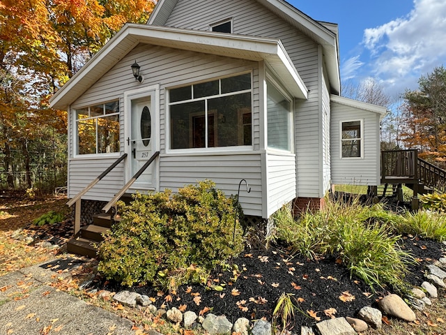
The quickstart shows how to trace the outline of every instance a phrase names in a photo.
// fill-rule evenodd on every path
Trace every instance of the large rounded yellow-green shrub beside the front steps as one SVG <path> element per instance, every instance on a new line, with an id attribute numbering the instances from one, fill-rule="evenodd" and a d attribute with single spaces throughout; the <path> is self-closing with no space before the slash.
<path id="1" fill-rule="evenodd" d="M 212 181 L 134 195 L 122 220 L 100 244 L 99 271 L 123 285 L 160 284 L 174 289 L 203 283 L 211 269 L 243 251 L 243 232 L 236 223 L 235 201 Z"/>

